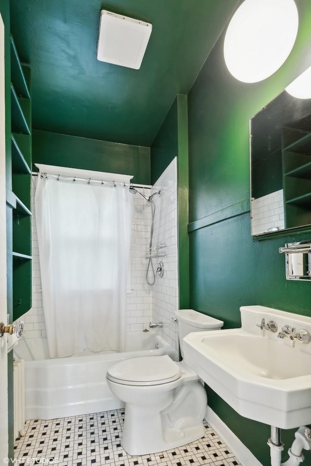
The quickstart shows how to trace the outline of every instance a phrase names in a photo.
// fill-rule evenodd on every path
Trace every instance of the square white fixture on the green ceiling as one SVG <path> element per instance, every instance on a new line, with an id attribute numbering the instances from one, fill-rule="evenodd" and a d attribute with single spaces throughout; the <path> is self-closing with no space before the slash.
<path id="1" fill-rule="evenodd" d="M 101 11 L 97 59 L 139 69 L 151 35 L 152 24 Z"/>

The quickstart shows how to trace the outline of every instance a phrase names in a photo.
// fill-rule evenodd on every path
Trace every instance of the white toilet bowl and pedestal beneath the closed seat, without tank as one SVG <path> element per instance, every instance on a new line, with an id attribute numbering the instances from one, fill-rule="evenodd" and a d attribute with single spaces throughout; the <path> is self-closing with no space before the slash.
<path id="1" fill-rule="evenodd" d="M 167 383 L 122 384 L 107 376 L 112 393 L 125 402 L 121 445 L 131 456 L 182 447 L 204 436 L 206 391 L 189 367 L 175 364 L 180 377 Z"/>

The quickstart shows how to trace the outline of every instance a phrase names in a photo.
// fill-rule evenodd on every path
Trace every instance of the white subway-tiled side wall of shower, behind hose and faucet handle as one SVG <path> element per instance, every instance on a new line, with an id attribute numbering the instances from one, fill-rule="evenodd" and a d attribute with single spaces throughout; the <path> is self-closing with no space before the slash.
<path id="1" fill-rule="evenodd" d="M 175 359 L 179 359 L 179 342 L 177 324 L 173 323 L 178 309 L 178 238 L 177 238 L 177 161 L 170 163 L 153 186 L 152 192 L 161 190 L 161 196 L 155 196 L 155 246 L 165 245 L 159 249 L 165 257 L 154 260 L 155 268 L 160 261 L 164 264 L 164 276 L 156 277 L 152 290 L 153 322 L 162 322 L 161 336 L 175 349 Z"/>

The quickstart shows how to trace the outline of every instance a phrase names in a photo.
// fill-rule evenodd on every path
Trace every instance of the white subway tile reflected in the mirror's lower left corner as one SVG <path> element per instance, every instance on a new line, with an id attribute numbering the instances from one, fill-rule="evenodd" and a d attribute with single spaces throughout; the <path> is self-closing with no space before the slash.
<path id="1" fill-rule="evenodd" d="M 284 228 L 283 190 L 252 199 L 252 235 Z"/>

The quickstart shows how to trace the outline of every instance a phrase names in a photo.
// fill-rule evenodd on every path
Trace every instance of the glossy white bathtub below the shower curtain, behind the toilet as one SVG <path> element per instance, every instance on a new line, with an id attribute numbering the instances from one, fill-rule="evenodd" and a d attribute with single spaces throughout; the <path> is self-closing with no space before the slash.
<path id="1" fill-rule="evenodd" d="M 124 353 L 44 359 L 47 354 L 44 338 L 20 341 L 15 349 L 15 358 L 25 361 L 26 420 L 122 408 L 124 404 L 112 395 L 107 386 L 107 369 L 119 361 L 138 356 L 168 354 L 174 359 L 176 354 L 156 330 L 126 332 L 125 347 Z"/>

